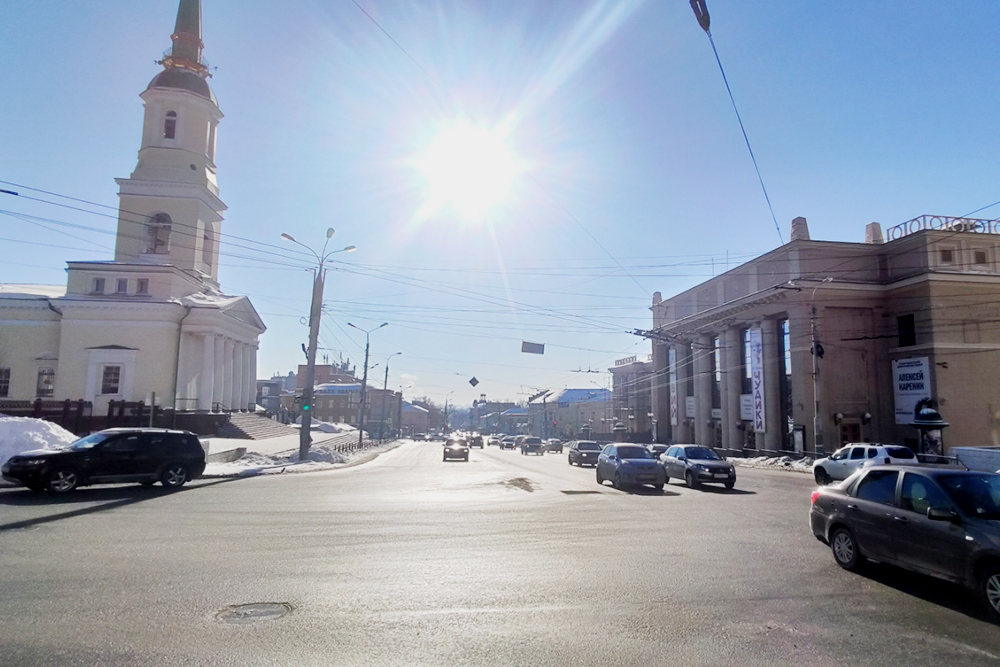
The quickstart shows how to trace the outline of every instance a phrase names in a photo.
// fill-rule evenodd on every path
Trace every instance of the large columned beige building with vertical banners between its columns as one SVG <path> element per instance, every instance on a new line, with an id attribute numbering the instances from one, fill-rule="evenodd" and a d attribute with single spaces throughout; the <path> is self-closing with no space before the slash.
<path id="1" fill-rule="evenodd" d="M 922 216 L 864 243 L 791 240 L 653 297 L 660 442 L 830 452 L 917 447 L 920 401 L 945 446 L 1000 445 L 1000 223 Z"/>

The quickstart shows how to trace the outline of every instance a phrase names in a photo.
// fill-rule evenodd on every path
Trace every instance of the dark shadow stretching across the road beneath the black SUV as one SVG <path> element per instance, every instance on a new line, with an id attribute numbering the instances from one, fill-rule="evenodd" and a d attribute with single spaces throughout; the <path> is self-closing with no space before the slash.
<path id="1" fill-rule="evenodd" d="M 81 507 L 80 509 L 69 510 L 66 512 L 59 512 L 57 514 L 48 514 L 46 516 L 35 517 L 33 519 L 23 519 L 21 521 L 12 521 L 10 523 L 3 523 L 0 524 L 0 532 L 3 532 L 5 530 L 21 530 L 24 528 L 31 528 L 33 526 L 38 526 L 43 523 L 52 523 L 53 521 L 72 519 L 73 517 L 77 516 L 94 514 L 95 512 L 104 512 L 106 510 L 112 510 L 118 507 L 125 507 L 126 505 L 134 505 L 135 503 L 141 503 L 147 500 L 156 500 L 158 498 L 165 498 L 175 493 L 190 493 L 192 491 L 197 491 L 198 489 L 204 489 L 209 486 L 215 486 L 217 484 L 235 482 L 239 479 L 245 479 L 245 478 L 227 477 L 226 479 L 219 479 L 212 482 L 205 482 L 204 484 L 198 484 L 198 483 L 190 484 L 188 486 L 176 490 L 167 490 L 162 487 L 145 487 L 139 485 L 116 486 L 111 488 L 102 487 L 96 489 L 84 488 L 84 489 L 77 489 L 76 491 L 69 493 L 65 496 L 52 496 L 43 493 L 34 493 L 26 489 L 0 491 L 0 505 L 51 507 L 51 506 L 76 505 L 79 503 L 93 503 L 93 502 L 101 503 L 99 505 Z"/>

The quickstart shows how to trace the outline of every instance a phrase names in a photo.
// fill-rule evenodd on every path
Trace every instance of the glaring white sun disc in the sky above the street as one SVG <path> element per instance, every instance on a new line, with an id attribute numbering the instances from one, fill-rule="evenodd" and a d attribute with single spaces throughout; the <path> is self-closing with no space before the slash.
<path id="1" fill-rule="evenodd" d="M 521 171 L 502 130 L 469 123 L 443 129 L 419 167 L 429 190 L 425 213 L 451 209 L 466 219 L 481 218 L 504 203 Z"/>

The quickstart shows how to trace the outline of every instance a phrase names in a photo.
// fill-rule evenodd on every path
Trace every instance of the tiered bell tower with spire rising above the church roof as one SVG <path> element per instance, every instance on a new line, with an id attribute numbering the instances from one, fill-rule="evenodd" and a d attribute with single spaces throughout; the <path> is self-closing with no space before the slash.
<path id="1" fill-rule="evenodd" d="M 145 107 L 135 171 L 116 179 L 115 261 L 171 265 L 218 288 L 226 205 L 215 176 L 222 119 L 202 58 L 200 0 L 180 0 L 171 48 L 140 95 Z"/>

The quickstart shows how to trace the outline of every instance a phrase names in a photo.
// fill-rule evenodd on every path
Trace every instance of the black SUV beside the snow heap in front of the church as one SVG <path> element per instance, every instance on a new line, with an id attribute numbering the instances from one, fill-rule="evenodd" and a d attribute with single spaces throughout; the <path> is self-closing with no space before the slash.
<path id="1" fill-rule="evenodd" d="M 4 479 L 32 491 L 69 493 L 88 484 L 159 481 L 173 489 L 205 471 L 205 450 L 188 431 L 112 428 L 91 433 L 66 449 L 40 449 L 12 456 Z"/>

